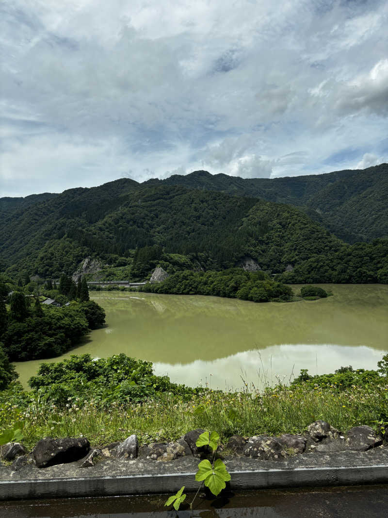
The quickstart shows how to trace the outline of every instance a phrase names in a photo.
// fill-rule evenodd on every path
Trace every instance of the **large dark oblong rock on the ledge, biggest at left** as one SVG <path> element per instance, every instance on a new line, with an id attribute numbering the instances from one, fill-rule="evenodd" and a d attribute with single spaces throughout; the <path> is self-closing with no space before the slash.
<path id="1" fill-rule="evenodd" d="M 34 461 L 38 468 L 46 468 L 55 464 L 65 464 L 79 461 L 90 449 L 86 437 L 78 439 L 51 439 L 40 440 L 33 451 Z"/>

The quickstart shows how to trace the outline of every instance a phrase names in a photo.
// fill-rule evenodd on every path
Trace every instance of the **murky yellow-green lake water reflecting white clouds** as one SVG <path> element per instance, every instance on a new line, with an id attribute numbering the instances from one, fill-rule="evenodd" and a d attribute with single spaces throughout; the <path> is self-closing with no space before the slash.
<path id="1" fill-rule="evenodd" d="M 242 378 L 276 382 L 307 368 L 376 368 L 388 352 L 388 285 L 322 285 L 316 301 L 255 304 L 197 295 L 91 292 L 108 326 L 64 356 L 124 352 L 154 363 L 172 381 L 240 388 Z M 298 290 L 298 286 L 294 286 Z M 50 360 L 47 360 L 50 361 Z M 51 360 L 53 361 L 53 360 Z M 16 364 L 23 384 L 39 361 Z"/>

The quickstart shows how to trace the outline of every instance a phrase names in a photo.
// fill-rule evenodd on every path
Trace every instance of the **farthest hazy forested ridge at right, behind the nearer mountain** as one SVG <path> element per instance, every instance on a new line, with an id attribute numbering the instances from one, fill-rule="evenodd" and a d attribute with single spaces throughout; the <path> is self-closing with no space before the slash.
<path id="1" fill-rule="evenodd" d="M 243 179 L 195 171 L 145 184 L 184 185 L 294 205 L 348 242 L 388 237 L 388 164 L 274 179 Z"/>

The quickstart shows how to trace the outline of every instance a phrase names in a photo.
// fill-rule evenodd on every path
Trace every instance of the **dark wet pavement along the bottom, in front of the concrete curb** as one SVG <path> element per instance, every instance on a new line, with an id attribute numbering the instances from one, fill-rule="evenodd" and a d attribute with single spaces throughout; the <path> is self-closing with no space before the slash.
<path id="1" fill-rule="evenodd" d="M 193 494 L 187 496 L 190 502 Z M 263 490 L 197 497 L 176 513 L 165 495 L 0 502 L 0 518 L 374 518 L 388 515 L 388 484 Z"/>

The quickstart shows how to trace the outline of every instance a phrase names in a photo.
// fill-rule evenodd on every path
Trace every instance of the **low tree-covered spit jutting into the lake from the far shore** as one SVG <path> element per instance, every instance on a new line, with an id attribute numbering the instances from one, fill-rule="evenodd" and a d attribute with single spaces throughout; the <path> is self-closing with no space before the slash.
<path id="1" fill-rule="evenodd" d="M 214 295 L 253 302 L 288 301 L 290 286 L 270 279 L 263 271 L 231 268 L 223 271 L 180 271 L 165 281 L 145 284 L 140 291 L 177 295 Z"/>

